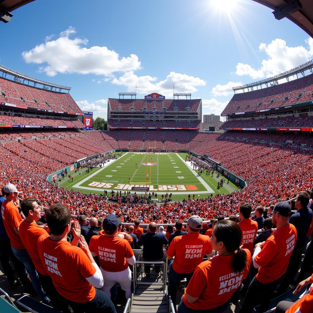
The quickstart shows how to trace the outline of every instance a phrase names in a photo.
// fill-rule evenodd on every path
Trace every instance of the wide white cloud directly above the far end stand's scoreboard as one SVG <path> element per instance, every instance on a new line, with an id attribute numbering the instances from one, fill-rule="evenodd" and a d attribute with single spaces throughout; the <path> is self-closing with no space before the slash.
<path id="1" fill-rule="evenodd" d="M 126 72 L 120 78 L 114 78 L 113 84 L 123 85 L 128 91 L 134 91 L 137 84 L 137 92 L 139 94 L 150 94 L 158 92 L 166 97 L 173 96 L 173 84 L 175 84 L 175 92 L 195 92 L 198 86 L 204 86 L 206 82 L 199 77 L 189 76 L 187 74 L 179 74 L 170 72 L 165 80 L 158 81 L 157 77 L 137 76 L 134 71 Z"/>

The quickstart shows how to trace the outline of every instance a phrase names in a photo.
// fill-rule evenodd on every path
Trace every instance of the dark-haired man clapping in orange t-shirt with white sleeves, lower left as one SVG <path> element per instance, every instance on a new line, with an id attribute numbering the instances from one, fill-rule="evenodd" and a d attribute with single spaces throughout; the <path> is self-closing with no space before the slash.
<path id="1" fill-rule="evenodd" d="M 96 289 L 103 286 L 103 277 L 84 236 L 80 235 L 80 248 L 66 241 L 71 229 L 68 208 L 52 205 L 47 223 L 51 236 L 38 239 L 38 253 L 63 300 L 78 311 L 116 313 L 109 297 Z"/>

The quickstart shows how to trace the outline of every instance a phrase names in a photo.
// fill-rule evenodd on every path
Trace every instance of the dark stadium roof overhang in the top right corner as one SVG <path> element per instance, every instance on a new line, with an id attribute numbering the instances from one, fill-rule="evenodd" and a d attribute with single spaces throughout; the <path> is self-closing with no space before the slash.
<path id="1" fill-rule="evenodd" d="M 313 38 L 312 0 L 253 0 L 273 9 L 276 19 L 288 18 Z"/>

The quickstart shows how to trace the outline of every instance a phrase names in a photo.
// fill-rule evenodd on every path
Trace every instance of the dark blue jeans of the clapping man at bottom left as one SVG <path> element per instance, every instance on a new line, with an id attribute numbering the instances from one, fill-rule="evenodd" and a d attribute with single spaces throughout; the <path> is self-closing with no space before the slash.
<path id="1" fill-rule="evenodd" d="M 95 290 L 96 290 L 95 298 L 89 302 L 82 302 L 82 303 L 74 302 L 62 296 L 61 297 L 73 309 L 75 309 L 74 310 L 75 312 L 78 311 L 78 312 L 86 312 L 86 313 L 89 313 L 89 312 L 116 313 L 115 306 L 113 302 L 111 301 L 111 299 L 102 290 L 99 290 L 97 288 L 95 288 Z"/>

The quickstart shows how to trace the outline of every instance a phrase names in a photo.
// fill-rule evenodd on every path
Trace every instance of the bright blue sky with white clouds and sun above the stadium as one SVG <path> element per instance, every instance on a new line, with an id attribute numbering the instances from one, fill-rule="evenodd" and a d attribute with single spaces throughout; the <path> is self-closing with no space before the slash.
<path id="1" fill-rule="evenodd" d="M 171 99 L 173 83 L 219 114 L 231 87 L 312 58 L 313 39 L 271 12 L 252 0 L 36 0 L 0 24 L 0 63 L 71 86 L 95 116 L 136 84 L 138 98 Z"/>

